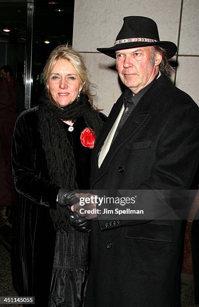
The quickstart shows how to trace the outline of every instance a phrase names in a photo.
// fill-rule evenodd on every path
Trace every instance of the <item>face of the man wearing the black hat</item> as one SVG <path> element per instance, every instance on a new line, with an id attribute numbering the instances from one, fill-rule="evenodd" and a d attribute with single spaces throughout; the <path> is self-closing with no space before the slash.
<path id="1" fill-rule="evenodd" d="M 161 55 L 152 46 L 118 50 L 115 54 L 119 77 L 134 94 L 148 85 L 159 70 Z"/>

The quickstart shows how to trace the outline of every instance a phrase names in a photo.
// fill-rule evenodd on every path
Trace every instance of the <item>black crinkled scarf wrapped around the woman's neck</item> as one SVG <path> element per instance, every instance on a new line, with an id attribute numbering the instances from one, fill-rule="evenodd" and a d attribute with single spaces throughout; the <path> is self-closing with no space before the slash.
<path id="1" fill-rule="evenodd" d="M 96 137 L 103 121 L 84 94 L 65 107 L 53 105 L 46 97 L 41 98 L 39 103 L 39 131 L 50 180 L 62 188 L 76 189 L 75 159 L 60 119 L 75 121 L 83 116 L 87 127 L 94 130 Z"/>

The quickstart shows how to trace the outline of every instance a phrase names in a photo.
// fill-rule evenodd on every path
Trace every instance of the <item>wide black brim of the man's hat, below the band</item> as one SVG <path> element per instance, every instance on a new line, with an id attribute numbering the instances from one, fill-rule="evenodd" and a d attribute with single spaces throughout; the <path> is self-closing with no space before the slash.
<path id="1" fill-rule="evenodd" d="M 130 42 L 130 43 L 117 44 L 110 48 L 97 48 L 96 50 L 115 59 L 116 50 L 123 50 L 123 49 L 136 48 L 136 47 L 145 47 L 145 46 L 159 46 L 159 47 L 164 48 L 168 55 L 168 59 L 172 58 L 177 51 L 177 46 L 172 42 L 153 42 L 153 43 Z"/>

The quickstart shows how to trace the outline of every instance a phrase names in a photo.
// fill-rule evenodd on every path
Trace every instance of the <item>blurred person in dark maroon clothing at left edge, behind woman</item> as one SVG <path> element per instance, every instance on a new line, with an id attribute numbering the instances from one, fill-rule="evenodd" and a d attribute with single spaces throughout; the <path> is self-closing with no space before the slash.
<path id="1" fill-rule="evenodd" d="M 12 209 L 16 203 L 11 169 L 11 143 L 16 117 L 14 89 L 6 78 L 0 77 L 0 240 L 8 249 Z"/>

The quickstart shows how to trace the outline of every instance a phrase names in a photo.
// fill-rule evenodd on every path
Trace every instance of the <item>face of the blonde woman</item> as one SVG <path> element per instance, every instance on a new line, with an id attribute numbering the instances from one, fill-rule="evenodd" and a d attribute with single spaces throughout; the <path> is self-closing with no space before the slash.
<path id="1" fill-rule="evenodd" d="M 72 64 L 58 59 L 49 76 L 49 90 L 54 101 L 60 106 L 72 103 L 82 86 Z"/>

